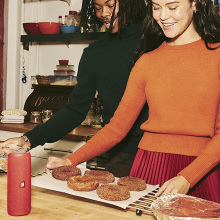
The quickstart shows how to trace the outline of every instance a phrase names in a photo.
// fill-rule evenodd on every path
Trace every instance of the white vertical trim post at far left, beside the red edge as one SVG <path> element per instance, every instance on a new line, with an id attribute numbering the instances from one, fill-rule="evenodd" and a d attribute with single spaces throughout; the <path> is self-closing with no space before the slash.
<path id="1" fill-rule="evenodd" d="M 9 108 L 19 103 L 20 11 L 19 0 L 5 1 L 4 104 Z"/>

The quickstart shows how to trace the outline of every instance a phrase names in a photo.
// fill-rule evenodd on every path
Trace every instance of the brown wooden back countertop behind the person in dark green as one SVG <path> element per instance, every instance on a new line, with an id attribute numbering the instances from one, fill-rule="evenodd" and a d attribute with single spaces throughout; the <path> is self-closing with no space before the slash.
<path id="1" fill-rule="evenodd" d="M 0 130 L 2 131 L 10 131 L 10 132 L 18 132 L 18 133 L 25 133 L 27 131 L 32 130 L 37 124 L 33 123 L 24 123 L 24 124 L 3 124 L 0 123 Z M 85 141 L 87 136 L 96 134 L 100 129 L 86 127 L 80 125 L 79 127 L 75 128 L 69 134 L 67 134 L 64 139 L 72 139 L 72 140 L 79 140 Z"/>

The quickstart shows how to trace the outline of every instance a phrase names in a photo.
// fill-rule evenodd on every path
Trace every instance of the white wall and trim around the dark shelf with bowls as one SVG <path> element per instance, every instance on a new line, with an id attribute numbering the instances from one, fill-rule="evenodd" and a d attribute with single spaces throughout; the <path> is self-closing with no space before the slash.
<path id="1" fill-rule="evenodd" d="M 79 11 L 82 0 L 8 0 L 6 8 L 6 65 L 5 65 L 5 109 L 23 108 L 24 103 L 33 91 L 31 89 L 31 76 L 53 75 L 59 59 L 69 59 L 69 64 L 78 63 L 83 49 L 90 42 L 71 43 L 32 43 L 29 51 L 23 50 L 20 35 L 26 34 L 23 30 L 24 22 L 57 22 L 58 16 L 63 18 L 69 10 Z M 23 84 L 21 78 L 23 71 L 27 75 L 27 83 Z"/>

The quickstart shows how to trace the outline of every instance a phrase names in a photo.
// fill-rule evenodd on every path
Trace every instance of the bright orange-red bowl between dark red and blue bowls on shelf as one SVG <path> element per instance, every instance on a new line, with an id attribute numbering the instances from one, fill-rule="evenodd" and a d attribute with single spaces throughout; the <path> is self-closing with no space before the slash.
<path id="1" fill-rule="evenodd" d="M 61 23 L 39 22 L 39 30 L 42 34 L 59 34 Z"/>

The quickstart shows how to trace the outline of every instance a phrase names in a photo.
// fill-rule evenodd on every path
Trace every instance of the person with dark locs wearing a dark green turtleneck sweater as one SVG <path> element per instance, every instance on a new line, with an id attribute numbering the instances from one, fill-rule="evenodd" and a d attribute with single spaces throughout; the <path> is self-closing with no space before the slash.
<path id="1" fill-rule="evenodd" d="M 58 141 L 84 121 L 96 91 L 103 101 L 103 123 L 107 124 L 124 94 L 145 14 L 144 0 L 83 0 L 82 26 L 86 30 L 105 25 L 107 32 L 84 49 L 69 102 L 46 123 L 25 133 L 27 142 L 23 137 L 10 138 L 0 149 L 14 144 L 27 150 Z M 109 151 L 105 168 L 115 176 L 129 175 L 143 135 L 140 124 L 147 119 L 147 112 L 146 105 L 129 134 Z"/>

